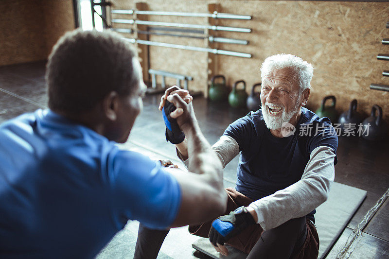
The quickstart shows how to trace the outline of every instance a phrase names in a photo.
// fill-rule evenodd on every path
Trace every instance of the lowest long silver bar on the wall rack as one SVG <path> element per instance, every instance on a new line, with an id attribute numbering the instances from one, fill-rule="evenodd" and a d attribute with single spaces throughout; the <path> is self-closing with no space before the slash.
<path id="1" fill-rule="evenodd" d="M 123 39 L 125 39 L 131 43 L 138 43 L 138 44 L 149 45 L 149 46 L 159 46 L 159 47 L 167 47 L 167 48 L 174 48 L 174 49 L 181 49 L 181 50 L 188 50 L 188 51 L 210 52 L 213 54 L 251 58 L 251 54 L 243 53 L 243 52 L 233 52 L 233 51 L 225 51 L 225 50 L 218 50 L 218 49 L 211 49 L 211 48 L 201 48 L 201 47 L 195 47 L 195 46 L 186 46 L 186 45 L 171 44 L 171 43 L 164 43 L 164 42 L 157 42 L 157 41 L 150 41 L 150 40 L 141 40 L 141 39 L 134 39 L 134 38 L 123 38 Z"/>

